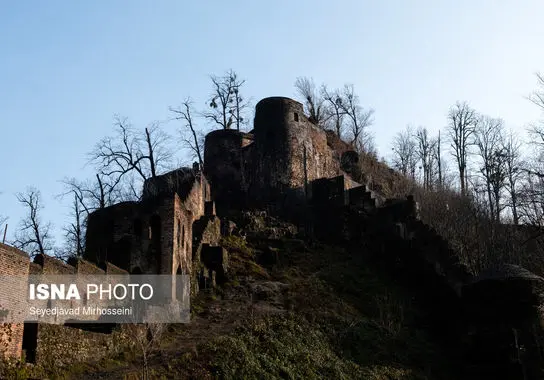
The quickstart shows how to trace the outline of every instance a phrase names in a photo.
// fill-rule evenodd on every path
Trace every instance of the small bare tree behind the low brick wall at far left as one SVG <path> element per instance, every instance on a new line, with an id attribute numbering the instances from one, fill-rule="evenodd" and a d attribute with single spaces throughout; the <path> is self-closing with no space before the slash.
<path id="1" fill-rule="evenodd" d="M 50 253 L 53 250 L 51 223 L 44 223 L 41 219 L 43 205 L 40 191 L 29 187 L 24 193 L 17 194 L 17 200 L 25 207 L 27 214 L 21 220 L 14 246 L 31 256 Z"/>

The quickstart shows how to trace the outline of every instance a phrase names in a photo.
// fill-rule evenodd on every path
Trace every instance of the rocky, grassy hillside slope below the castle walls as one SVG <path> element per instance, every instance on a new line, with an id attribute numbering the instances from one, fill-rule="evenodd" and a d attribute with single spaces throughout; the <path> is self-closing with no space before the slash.
<path id="1" fill-rule="evenodd" d="M 463 366 L 428 329 L 417 292 L 368 251 L 327 246 L 245 213 L 223 238 L 228 280 L 201 290 L 190 324 L 167 326 L 149 352 L 157 379 L 457 379 Z M 140 379 L 142 352 L 42 375 Z"/>

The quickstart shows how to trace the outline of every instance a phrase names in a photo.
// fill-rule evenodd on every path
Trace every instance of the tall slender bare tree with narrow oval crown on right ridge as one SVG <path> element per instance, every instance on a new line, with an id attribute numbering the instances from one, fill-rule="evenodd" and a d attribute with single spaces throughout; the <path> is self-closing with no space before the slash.
<path id="1" fill-rule="evenodd" d="M 466 102 L 457 102 L 455 106 L 450 108 L 448 114 L 450 144 L 459 170 L 462 195 L 466 195 L 467 193 L 467 156 L 471 136 L 474 134 L 476 116 L 476 111 Z"/>

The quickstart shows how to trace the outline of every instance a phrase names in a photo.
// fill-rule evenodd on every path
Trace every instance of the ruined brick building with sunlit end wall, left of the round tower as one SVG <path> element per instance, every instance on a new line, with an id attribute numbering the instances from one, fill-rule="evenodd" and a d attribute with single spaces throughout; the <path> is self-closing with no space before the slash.
<path id="1" fill-rule="evenodd" d="M 131 273 L 190 273 L 192 224 L 210 199 L 206 178 L 180 169 L 147 181 L 144 193 L 90 215 L 85 258 Z"/>

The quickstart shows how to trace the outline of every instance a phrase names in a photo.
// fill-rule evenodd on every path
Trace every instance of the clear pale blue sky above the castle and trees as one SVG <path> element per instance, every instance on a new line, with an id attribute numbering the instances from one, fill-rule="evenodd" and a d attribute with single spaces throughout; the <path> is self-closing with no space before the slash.
<path id="1" fill-rule="evenodd" d="M 0 1 L 0 214 L 12 237 L 15 193 L 36 186 L 60 235 L 59 181 L 91 174 L 114 114 L 145 126 L 186 96 L 203 107 L 230 68 L 254 104 L 293 97 L 298 76 L 354 84 L 380 155 L 408 123 L 443 128 L 456 100 L 522 130 L 539 117 L 525 96 L 543 14 L 542 0 Z"/>

